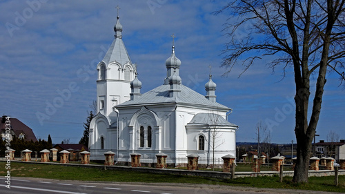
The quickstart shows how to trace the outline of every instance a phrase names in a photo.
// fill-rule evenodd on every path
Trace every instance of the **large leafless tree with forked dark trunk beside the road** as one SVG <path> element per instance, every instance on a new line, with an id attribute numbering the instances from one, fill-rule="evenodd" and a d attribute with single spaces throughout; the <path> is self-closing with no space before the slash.
<path id="1" fill-rule="evenodd" d="M 256 59 L 270 55 L 270 67 L 293 67 L 297 163 L 293 182 L 308 182 L 312 141 L 321 111 L 326 72 L 344 81 L 345 0 L 235 0 L 215 12 L 230 11 L 222 66 L 229 72 L 239 62 L 246 71 Z M 246 37 L 237 33 L 247 26 Z M 308 116 L 311 75 L 317 76 Z"/>

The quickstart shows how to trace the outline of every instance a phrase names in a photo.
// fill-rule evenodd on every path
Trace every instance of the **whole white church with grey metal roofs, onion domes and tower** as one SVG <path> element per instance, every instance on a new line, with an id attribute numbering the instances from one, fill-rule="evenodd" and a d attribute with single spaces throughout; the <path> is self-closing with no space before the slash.
<path id="1" fill-rule="evenodd" d="M 213 157 L 213 152 L 215 157 L 235 156 L 238 126 L 227 121 L 232 109 L 217 103 L 212 76 L 205 84 L 205 95 L 181 84 L 183 66 L 172 46 L 163 85 L 141 94 L 119 16 L 114 30 L 115 39 L 97 65 L 97 115 L 90 123 L 90 159 L 103 160 L 107 151 L 115 153 L 119 162 L 128 162 L 130 153 L 141 157 L 164 153 L 168 158 Z"/>

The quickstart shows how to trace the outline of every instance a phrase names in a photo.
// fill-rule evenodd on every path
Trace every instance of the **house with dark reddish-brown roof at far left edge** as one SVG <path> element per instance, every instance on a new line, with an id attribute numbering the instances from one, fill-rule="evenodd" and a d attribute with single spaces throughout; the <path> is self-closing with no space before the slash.
<path id="1" fill-rule="evenodd" d="M 34 136 L 34 132 L 30 127 L 26 126 L 26 124 L 23 124 L 23 122 L 16 118 L 10 118 L 10 122 L 6 123 L 6 121 L 8 121 L 6 117 L 6 115 L 3 115 L 0 122 L 0 133 L 3 140 L 6 139 L 6 124 L 10 124 L 11 141 L 16 138 L 37 142 L 36 136 Z"/>

